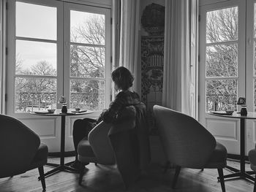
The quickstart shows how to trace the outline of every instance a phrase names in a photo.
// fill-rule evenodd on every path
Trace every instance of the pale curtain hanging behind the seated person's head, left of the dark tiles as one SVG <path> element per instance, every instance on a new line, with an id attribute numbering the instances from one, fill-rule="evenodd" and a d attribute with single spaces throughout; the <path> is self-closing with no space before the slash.
<path id="1" fill-rule="evenodd" d="M 138 36 L 140 0 L 121 0 L 121 31 L 119 66 L 124 66 L 135 76 L 134 91 L 138 91 Z"/>

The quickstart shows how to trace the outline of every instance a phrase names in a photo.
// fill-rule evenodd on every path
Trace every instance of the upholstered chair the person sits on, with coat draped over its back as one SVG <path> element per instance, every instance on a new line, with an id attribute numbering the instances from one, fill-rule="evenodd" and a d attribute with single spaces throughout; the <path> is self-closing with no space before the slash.
<path id="1" fill-rule="evenodd" d="M 78 160 L 102 165 L 116 164 L 124 188 L 135 183 L 150 161 L 146 107 L 141 103 L 125 107 L 118 122 L 101 122 L 78 145 Z M 82 166 L 84 169 L 84 166 Z M 84 170 L 80 170 L 79 184 Z"/>

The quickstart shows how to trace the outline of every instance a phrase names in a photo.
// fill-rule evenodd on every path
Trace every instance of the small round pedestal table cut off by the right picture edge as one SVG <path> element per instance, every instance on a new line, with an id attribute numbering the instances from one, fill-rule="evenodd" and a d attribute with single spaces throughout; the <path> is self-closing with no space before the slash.
<path id="1" fill-rule="evenodd" d="M 240 170 L 235 169 L 231 166 L 227 166 L 227 169 L 230 169 L 233 171 L 233 174 L 226 174 L 224 178 L 242 178 L 242 179 L 249 179 L 253 182 L 255 181 L 255 178 L 252 177 L 250 174 L 255 174 L 255 172 L 246 172 L 245 171 L 245 120 L 246 119 L 256 119 L 256 112 L 248 112 L 247 116 L 241 116 L 240 114 L 233 112 L 233 115 L 225 115 L 225 114 L 218 114 L 218 112 L 208 112 L 209 115 L 214 115 L 222 118 L 236 118 L 240 119 Z"/>

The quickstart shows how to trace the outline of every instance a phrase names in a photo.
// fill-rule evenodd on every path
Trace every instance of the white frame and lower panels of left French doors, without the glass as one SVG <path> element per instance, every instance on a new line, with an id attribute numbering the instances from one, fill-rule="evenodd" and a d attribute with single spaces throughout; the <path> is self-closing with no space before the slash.
<path id="1" fill-rule="evenodd" d="M 69 91 L 69 88 L 67 88 L 64 85 L 64 75 L 66 75 L 69 70 L 69 62 L 64 61 L 64 59 L 67 59 L 67 55 L 64 55 L 67 53 L 67 48 L 65 48 L 64 45 L 64 28 L 67 27 L 64 25 L 64 5 L 72 5 L 75 7 L 90 7 L 91 9 L 100 9 L 101 12 L 103 9 L 105 9 L 105 12 L 108 12 L 108 18 L 110 22 L 110 14 L 111 9 L 108 7 L 95 7 L 91 5 L 84 5 L 84 4 L 73 4 L 73 3 L 67 3 L 64 1 L 52 1 L 52 0 L 18 0 L 26 3 L 31 4 L 39 4 L 44 6 L 52 6 L 57 7 L 57 96 L 60 95 L 69 95 L 67 93 Z M 8 37 L 7 37 L 7 46 L 8 46 L 8 52 L 7 55 L 7 94 L 8 94 L 8 100 L 6 101 L 7 104 L 7 115 L 11 115 L 12 117 L 18 118 L 21 120 L 26 126 L 29 126 L 34 132 L 36 132 L 41 141 L 44 142 L 49 147 L 50 152 L 56 152 L 59 151 L 59 144 L 60 144 L 60 138 L 61 138 L 61 119 L 56 117 L 38 117 L 37 115 L 31 115 L 28 112 L 20 112 L 17 113 L 14 110 L 15 101 L 13 99 L 13 96 L 15 96 L 15 0 L 9 0 L 9 8 L 7 11 L 7 31 Z M 66 6 L 67 6 L 66 5 Z M 65 16 L 66 17 L 66 16 Z M 108 22 L 106 20 L 106 22 Z M 106 31 L 108 30 L 108 37 L 106 37 L 106 44 L 108 43 L 108 49 L 106 49 L 106 60 L 105 64 L 108 65 L 108 70 L 106 69 L 106 74 L 110 74 L 111 69 L 111 25 L 110 23 L 106 25 Z M 69 49 L 68 49 L 69 50 Z M 108 58 L 107 58 L 108 54 Z M 108 63 L 107 63 L 108 62 Z M 12 72 L 12 73 L 10 73 Z M 68 77 L 68 76 L 67 76 Z M 105 93 L 107 93 L 110 96 L 111 89 L 110 89 L 110 75 L 106 76 L 106 84 L 108 82 L 108 87 L 105 88 Z M 106 95 L 107 95 L 106 94 Z M 107 98 L 105 101 L 106 106 L 110 103 L 110 98 Z M 60 108 L 60 106 L 58 107 Z M 97 118 L 99 116 L 99 112 L 94 112 L 91 115 L 86 116 L 86 118 Z M 72 117 L 67 118 L 66 120 L 66 151 L 67 150 L 74 150 L 73 143 L 72 143 L 72 125 L 74 121 L 78 118 L 83 117 Z"/>

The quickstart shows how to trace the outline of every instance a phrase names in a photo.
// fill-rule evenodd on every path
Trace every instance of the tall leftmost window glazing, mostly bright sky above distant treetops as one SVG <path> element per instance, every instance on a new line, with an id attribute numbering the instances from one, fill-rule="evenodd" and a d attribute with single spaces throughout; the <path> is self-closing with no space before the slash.
<path id="1" fill-rule="evenodd" d="M 17 1 L 15 16 L 14 110 L 56 105 L 57 8 Z"/>

